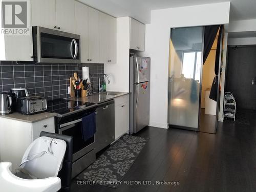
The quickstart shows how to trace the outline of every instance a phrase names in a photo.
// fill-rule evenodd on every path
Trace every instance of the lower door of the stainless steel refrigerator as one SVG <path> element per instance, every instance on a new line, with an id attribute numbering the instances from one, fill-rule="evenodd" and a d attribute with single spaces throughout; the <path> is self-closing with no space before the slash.
<path id="1" fill-rule="evenodd" d="M 150 82 L 134 84 L 135 133 L 150 122 Z"/>

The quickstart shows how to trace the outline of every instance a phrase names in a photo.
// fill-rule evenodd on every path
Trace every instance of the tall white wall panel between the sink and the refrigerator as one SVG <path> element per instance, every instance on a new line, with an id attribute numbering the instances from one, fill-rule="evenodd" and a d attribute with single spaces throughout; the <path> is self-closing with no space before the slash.
<path id="1" fill-rule="evenodd" d="M 129 17 L 117 18 L 117 62 L 104 64 L 104 73 L 111 82 L 106 85 L 108 91 L 129 92 L 129 22 Z"/>

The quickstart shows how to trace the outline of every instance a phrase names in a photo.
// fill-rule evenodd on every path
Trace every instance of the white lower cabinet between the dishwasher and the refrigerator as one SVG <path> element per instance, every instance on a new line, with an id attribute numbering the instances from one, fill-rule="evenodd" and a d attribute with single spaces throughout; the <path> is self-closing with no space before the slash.
<path id="1" fill-rule="evenodd" d="M 129 132 L 129 96 L 115 98 L 115 140 Z"/>

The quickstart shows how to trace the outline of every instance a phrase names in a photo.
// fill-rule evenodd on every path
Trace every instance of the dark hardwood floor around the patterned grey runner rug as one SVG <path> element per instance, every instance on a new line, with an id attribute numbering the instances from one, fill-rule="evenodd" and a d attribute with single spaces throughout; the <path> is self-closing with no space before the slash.
<path id="1" fill-rule="evenodd" d="M 123 181 L 176 181 L 179 185 L 77 185 L 72 191 L 256 191 L 256 115 L 250 126 L 219 123 L 217 134 L 146 127 L 150 140 Z"/>

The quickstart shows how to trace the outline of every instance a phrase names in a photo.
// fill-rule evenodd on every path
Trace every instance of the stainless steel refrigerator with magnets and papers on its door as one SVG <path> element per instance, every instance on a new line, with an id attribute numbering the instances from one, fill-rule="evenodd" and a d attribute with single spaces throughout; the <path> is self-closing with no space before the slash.
<path id="1" fill-rule="evenodd" d="M 150 57 L 130 54 L 130 134 L 150 122 Z"/>

